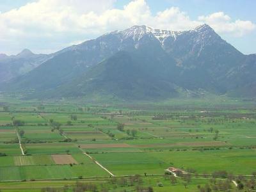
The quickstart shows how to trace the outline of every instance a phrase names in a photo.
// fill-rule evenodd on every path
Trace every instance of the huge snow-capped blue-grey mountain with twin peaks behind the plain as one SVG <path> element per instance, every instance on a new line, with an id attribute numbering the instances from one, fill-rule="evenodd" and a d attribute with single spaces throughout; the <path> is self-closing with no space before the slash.
<path id="1" fill-rule="evenodd" d="M 206 24 L 189 31 L 133 26 L 56 52 L 0 88 L 33 98 L 150 100 L 202 90 L 253 97 L 255 61 Z"/>

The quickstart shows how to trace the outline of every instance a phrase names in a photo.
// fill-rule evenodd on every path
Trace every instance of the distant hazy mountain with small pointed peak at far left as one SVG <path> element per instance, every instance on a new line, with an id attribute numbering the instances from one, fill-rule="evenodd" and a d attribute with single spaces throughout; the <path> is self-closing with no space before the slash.
<path id="1" fill-rule="evenodd" d="M 0 83 L 26 74 L 50 58 L 47 54 L 34 54 L 24 49 L 16 56 L 0 54 Z"/>

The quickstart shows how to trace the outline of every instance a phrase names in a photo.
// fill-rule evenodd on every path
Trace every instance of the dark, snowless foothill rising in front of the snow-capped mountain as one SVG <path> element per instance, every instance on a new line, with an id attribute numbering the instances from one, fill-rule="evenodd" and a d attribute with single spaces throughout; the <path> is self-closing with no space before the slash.
<path id="1" fill-rule="evenodd" d="M 86 74 L 70 84 L 61 86 L 55 93 L 60 93 L 64 97 L 90 96 L 100 93 L 125 100 L 177 96 L 175 90 L 177 86 L 159 70 L 160 67 L 162 71 L 170 70 L 170 67 L 162 68 L 162 63 L 154 61 L 156 60 L 152 58 L 151 63 L 155 64 L 151 68 L 155 69 L 155 73 L 152 73 L 145 70 L 150 63 L 143 62 L 140 55 L 120 51 L 90 68 Z M 175 63 L 172 67 L 175 68 Z"/>

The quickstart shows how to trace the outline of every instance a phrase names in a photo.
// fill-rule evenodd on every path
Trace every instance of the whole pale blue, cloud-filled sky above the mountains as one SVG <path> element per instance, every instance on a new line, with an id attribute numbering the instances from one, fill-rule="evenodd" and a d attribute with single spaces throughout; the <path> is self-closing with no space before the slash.
<path id="1" fill-rule="evenodd" d="M 255 0 L 0 0 L 0 53 L 56 52 L 134 25 L 184 31 L 206 23 L 252 54 L 255 8 Z"/>

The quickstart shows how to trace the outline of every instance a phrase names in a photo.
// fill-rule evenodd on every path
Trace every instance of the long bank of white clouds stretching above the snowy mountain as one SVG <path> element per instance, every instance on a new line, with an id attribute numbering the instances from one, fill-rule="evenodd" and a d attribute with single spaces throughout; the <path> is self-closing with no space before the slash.
<path id="1" fill-rule="evenodd" d="M 223 12 L 191 20 L 186 12 L 177 7 L 153 15 L 145 0 L 131 1 L 123 9 L 113 8 L 115 1 L 39 0 L 0 13 L 0 52 L 6 52 L 6 49 L 17 51 L 23 47 L 37 51 L 58 50 L 70 42 L 80 42 L 136 24 L 180 31 L 207 23 L 217 33 L 236 36 L 255 29 L 251 21 L 232 21 Z"/>

